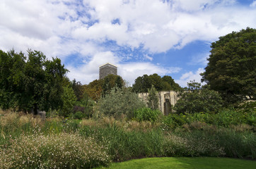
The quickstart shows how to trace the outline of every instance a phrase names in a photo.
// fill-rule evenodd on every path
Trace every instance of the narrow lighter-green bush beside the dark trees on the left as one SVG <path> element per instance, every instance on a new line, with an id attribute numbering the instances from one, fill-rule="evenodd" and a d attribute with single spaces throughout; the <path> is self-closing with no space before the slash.
<path id="1" fill-rule="evenodd" d="M 74 104 L 76 103 L 76 95 L 71 87 L 64 87 L 64 93 L 62 95 L 63 106 L 60 108 L 60 115 L 64 117 L 69 116 L 72 113 Z"/>

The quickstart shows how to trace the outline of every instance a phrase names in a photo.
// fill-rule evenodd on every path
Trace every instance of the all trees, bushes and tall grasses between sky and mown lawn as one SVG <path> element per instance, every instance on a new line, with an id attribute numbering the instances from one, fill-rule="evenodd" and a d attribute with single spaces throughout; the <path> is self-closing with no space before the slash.
<path id="1" fill-rule="evenodd" d="M 250 28 L 221 37 L 211 45 L 206 84 L 184 88 L 157 74 L 132 87 L 117 75 L 81 84 L 59 58 L 0 51 L 0 168 L 95 168 L 159 156 L 254 160 L 255 38 Z M 240 74 L 236 63 L 248 68 Z M 168 115 L 158 108 L 163 90 L 180 96 Z"/>

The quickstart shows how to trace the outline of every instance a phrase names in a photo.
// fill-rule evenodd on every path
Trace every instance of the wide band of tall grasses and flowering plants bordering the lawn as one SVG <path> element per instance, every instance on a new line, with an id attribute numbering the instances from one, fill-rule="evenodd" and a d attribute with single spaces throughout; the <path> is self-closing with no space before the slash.
<path id="1" fill-rule="evenodd" d="M 199 113 L 156 122 L 0 114 L 0 168 L 95 168 L 148 157 L 256 157 L 254 111 L 243 118 L 226 112 L 233 121 L 224 112 L 219 120 Z"/>

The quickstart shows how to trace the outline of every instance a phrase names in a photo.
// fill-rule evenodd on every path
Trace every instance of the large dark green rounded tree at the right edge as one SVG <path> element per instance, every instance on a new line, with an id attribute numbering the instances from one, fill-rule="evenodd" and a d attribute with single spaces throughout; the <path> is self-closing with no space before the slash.
<path id="1" fill-rule="evenodd" d="M 202 82 L 233 101 L 256 99 L 256 30 L 232 32 L 211 44 Z"/>

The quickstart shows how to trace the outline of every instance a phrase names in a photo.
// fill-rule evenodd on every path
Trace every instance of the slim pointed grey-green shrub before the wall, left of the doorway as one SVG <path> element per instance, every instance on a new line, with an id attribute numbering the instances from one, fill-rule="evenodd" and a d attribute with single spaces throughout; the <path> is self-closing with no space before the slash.
<path id="1" fill-rule="evenodd" d="M 151 89 L 149 89 L 149 96 L 148 96 L 147 105 L 152 110 L 158 110 L 159 108 L 159 99 L 158 99 L 158 92 L 156 91 L 155 87 L 153 85 L 151 86 Z"/>

